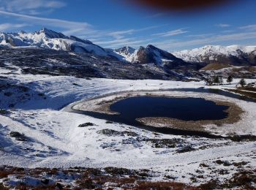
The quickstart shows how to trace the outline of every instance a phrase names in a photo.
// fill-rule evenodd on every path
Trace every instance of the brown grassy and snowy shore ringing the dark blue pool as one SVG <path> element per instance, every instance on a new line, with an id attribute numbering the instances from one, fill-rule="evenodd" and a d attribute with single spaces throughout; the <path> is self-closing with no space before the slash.
<path id="1" fill-rule="evenodd" d="M 190 96 L 184 94 L 173 93 L 175 91 L 130 91 L 120 94 L 114 94 L 110 96 L 101 96 L 99 98 L 90 99 L 88 101 L 80 102 L 75 104 L 72 109 L 101 113 L 106 115 L 118 115 L 119 113 L 114 112 L 110 109 L 112 104 L 119 102 L 124 99 L 131 97 L 140 96 L 151 96 L 151 97 L 165 97 L 165 98 L 188 98 Z M 170 129 L 181 129 L 195 132 L 208 132 L 208 126 L 211 128 L 221 127 L 223 125 L 232 125 L 237 123 L 243 118 L 245 111 L 239 107 L 235 102 L 223 101 L 222 99 L 212 98 L 211 96 L 200 96 L 203 99 L 215 102 L 218 105 L 225 105 L 229 107 L 226 112 L 228 113 L 227 118 L 220 120 L 200 120 L 200 121 L 182 121 L 174 118 L 163 118 L 163 117 L 146 117 L 136 118 L 136 121 L 143 126 L 152 126 L 155 128 L 170 128 Z"/>

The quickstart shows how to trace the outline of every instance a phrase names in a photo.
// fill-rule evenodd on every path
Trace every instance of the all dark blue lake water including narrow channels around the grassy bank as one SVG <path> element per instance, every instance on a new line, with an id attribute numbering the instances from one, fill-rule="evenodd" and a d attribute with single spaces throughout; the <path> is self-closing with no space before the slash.
<path id="1" fill-rule="evenodd" d="M 203 90 L 203 89 L 201 89 Z M 156 128 L 145 126 L 136 118 L 143 117 L 169 117 L 184 121 L 198 120 L 219 120 L 227 117 L 227 106 L 217 105 L 214 102 L 200 98 L 163 98 L 140 96 L 124 99 L 110 106 L 110 109 L 120 113 L 120 115 L 108 115 L 104 113 L 86 112 L 72 110 L 73 113 L 89 115 L 94 118 L 105 119 L 116 123 L 124 123 L 146 129 L 151 132 L 163 134 L 190 135 L 208 138 L 223 138 L 208 132 L 195 132 L 181 129 L 170 129 L 167 127 Z"/>

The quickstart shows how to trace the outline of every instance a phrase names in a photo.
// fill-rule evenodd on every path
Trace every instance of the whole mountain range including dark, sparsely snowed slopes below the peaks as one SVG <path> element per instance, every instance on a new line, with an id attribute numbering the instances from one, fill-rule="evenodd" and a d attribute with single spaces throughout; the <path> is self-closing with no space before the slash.
<path id="1" fill-rule="evenodd" d="M 48 28 L 0 33 L 0 66 L 8 66 L 6 60 L 31 74 L 187 80 L 220 71 L 223 76 L 256 77 L 256 46 L 208 45 L 173 53 L 154 45 L 110 49 Z"/>

